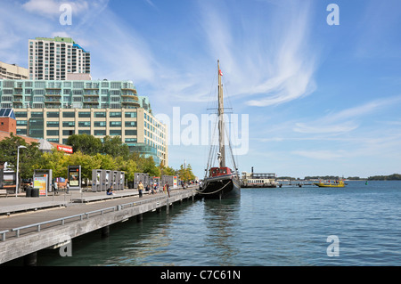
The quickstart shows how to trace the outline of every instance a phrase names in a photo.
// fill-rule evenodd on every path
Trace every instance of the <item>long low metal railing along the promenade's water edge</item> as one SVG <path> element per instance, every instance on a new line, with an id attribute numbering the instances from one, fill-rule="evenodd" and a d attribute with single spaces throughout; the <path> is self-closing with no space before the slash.
<path id="1" fill-rule="evenodd" d="M 189 198 L 190 196 L 192 196 L 193 193 L 194 193 L 194 191 L 188 192 L 186 198 Z M 180 194 L 182 194 L 182 193 L 180 193 L 180 192 L 175 192 L 175 193 L 170 192 L 170 197 L 169 198 L 175 197 L 175 196 L 180 195 Z M 121 209 L 123 209 L 125 207 L 140 206 L 140 205 L 143 205 L 145 203 L 151 203 L 151 202 L 158 201 L 158 200 L 166 199 L 167 200 L 167 205 L 168 205 L 169 204 L 169 202 L 168 202 L 169 198 L 168 198 L 168 196 L 163 195 L 163 196 L 152 198 L 152 199 L 143 199 L 143 200 L 133 201 L 133 202 L 121 204 L 121 205 L 118 205 L 118 206 L 107 207 L 107 208 L 102 208 L 102 209 L 98 209 L 98 210 L 94 210 L 94 211 L 89 211 L 89 212 L 86 212 L 86 213 L 81 213 L 81 214 L 78 214 L 78 215 L 70 215 L 70 216 L 61 217 L 61 218 L 57 218 L 57 219 L 53 219 L 53 220 L 49 220 L 49 221 L 40 222 L 40 223 L 32 223 L 32 224 L 21 226 L 21 227 L 18 227 L 18 228 L 13 228 L 13 229 L 11 229 L 11 231 L 15 231 L 15 237 L 19 238 L 20 237 L 20 231 L 24 230 L 24 229 L 37 227 L 36 231 L 41 231 L 42 226 L 46 225 L 46 224 L 61 222 L 61 225 L 64 225 L 67 220 L 73 219 L 73 218 L 79 218 L 79 221 L 83 221 L 85 217 L 86 217 L 86 219 L 89 219 L 89 215 L 94 215 L 94 214 L 99 214 L 99 213 L 100 213 L 100 215 L 103 215 L 104 213 L 106 213 L 108 211 L 115 212 L 115 211 L 119 211 L 119 210 L 121 210 Z M 4 241 L 6 239 L 5 238 L 5 234 L 7 232 L 10 232 L 10 230 L 0 231 L 0 235 L 1 235 L 1 240 L 2 241 Z"/>

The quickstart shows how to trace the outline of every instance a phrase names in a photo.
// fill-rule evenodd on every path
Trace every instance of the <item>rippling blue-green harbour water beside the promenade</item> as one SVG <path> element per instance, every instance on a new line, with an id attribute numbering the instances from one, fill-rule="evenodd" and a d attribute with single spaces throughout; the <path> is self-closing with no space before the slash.
<path id="1" fill-rule="evenodd" d="M 401 182 L 345 189 L 242 189 L 241 199 L 195 200 L 73 240 L 71 257 L 38 265 L 400 265 Z M 339 256 L 328 256 L 340 239 Z"/>

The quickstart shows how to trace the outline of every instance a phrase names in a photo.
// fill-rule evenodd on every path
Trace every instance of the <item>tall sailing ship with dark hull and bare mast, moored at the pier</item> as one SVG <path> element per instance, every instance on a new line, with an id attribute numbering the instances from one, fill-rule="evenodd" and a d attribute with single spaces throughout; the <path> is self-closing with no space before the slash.
<path id="1" fill-rule="evenodd" d="M 231 148 L 230 140 L 227 138 L 227 145 L 225 145 L 225 108 L 223 100 L 223 85 L 221 83 L 222 72 L 220 70 L 220 63 L 217 61 L 217 74 L 218 74 L 218 108 L 217 108 L 217 123 L 218 123 L 218 152 L 217 157 L 214 155 L 213 142 L 210 145 L 209 161 L 205 173 L 205 178 L 202 181 L 199 189 L 199 195 L 206 199 L 228 199 L 239 197 L 241 195 L 241 183 L 238 169 L 235 165 L 233 158 L 233 150 Z M 233 168 L 226 166 L 226 147 L 227 152 L 231 155 Z M 218 166 L 212 166 L 213 161 L 217 158 Z"/>

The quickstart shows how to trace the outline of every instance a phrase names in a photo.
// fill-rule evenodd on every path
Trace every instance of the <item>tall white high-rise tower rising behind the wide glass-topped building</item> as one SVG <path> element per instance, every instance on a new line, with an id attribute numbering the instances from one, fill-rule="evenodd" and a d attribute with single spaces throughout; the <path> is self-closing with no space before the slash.
<path id="1" fill-rule="evenodd" d="M 29 39 L 30 80 L 66 80 L 69 73 L 91 72 L 90 53 L 70 37 Z"/>

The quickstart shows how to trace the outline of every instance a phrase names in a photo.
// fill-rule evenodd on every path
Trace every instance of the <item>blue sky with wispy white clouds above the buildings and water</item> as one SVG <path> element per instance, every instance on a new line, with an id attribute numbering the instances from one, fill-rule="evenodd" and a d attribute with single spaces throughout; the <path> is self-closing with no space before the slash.
<path id="1" fill-rule="evenodd" d="M 401 173 L 399 27 L 398 0 L 0 0 L 0 61 L 72 37 L 93 79 L 150 98 L 169 166 L 201 178 L 219 60 L 240 172 L 368 177 Z"/>

